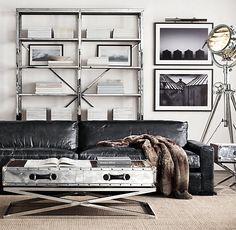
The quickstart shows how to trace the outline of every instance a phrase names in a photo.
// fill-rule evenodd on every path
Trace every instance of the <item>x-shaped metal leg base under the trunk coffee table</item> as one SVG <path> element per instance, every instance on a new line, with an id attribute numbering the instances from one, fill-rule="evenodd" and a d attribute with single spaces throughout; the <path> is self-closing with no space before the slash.
<path id="1" fill-rule="evenodd" d="M 35 202 L 38 202 L 40 199 L 44 200 L 51 200 L 51 201 L 56 201 L 56 202 L 61 202 L 63 204 L 55 204 L 53 206 L 49 207 L 43 207 L 43 208 L 35 208 L 33 210 L 28 210 L 28 211 L 20 211 L 17 213 L 9 213 L 9 209 L 11 206 L 9 206 L 9 209 L 6 212 L 6 215 L 4 215 L 5 218 L 14 218 L 14 217 L 23 217 L 27 215 L 34 215 L 34 214 L 40 214 L 48 211 L 54 211 L 54 210 L 60 210 L 60 209 L 65 209 L 65 208 L 71 208 L 71 207 L 76 207 L 76 206 L 84 206 L 84 207 L 90 207 L 90 208 L 96 208 L 96 209 L 101 209 L 101 210 L 106 210 L 106 211 L 111 211 L 115 212 L 117 214 L 122 214 L 124 216 L 143 216 L 143 217 L 155 217 L 155 214 L 151 210 L 151 208 L 148 206 L 148 204 L 144 202 L 138 202 L 138 201 L 131 201 L 129 199 L 125 199 L 126 197 L 130 196 L 136 196 L 140 194 L 146 194 L 146 193 L 151 193 L 154 192 L 155 190 L 153 188 L 147 188 L 142 191 L 135 191 L 135 192 L 126 192 L 118 195 L 112 195 L 112 196 L 101 196 L 100 194 L 96 193 L 90 193 L 96 198 L 88 199 L 85 201 L 76 201 L 73 199 L 69 199 L 68 197 L 57 197 L 57 196 L 51 196 L 51 195 L 44 195 L 40 194 L 37 192 L 30 192 L 27 191 L 27 188 L 6 188 L 5 191 L 8 192 L 14 192 L 17 194 L 22 194 L 22 195 L 27 195 L 30 197 L 33 197 L 33 199 L 26 200 L 31 205 Z M 64 194 L 63 194 L 64 195 Z M 103 203 L 107 201 L 119 201 L 123 203 Z M 127 202 L 128 201 L 128 202 Z M 23 202 L 23 201 L 21 201 Z M 148 210 L 148 213 L 143 213 L 143 212 L 138 212 L 138 211 L 133 211 L 133 210 L 127 210 L 125 208 L 122 208 L 123 206 L 127 206 L 128 204 L 134 204 L 134 203 L 139 203 L 143 208 Z M 113 207 L 109 207 L 113 206 Z"/>

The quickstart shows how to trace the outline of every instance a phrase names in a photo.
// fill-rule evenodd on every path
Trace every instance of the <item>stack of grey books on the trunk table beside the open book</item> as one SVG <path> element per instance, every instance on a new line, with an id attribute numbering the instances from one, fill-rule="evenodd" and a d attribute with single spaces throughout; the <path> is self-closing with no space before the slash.
<path id="1" fill-rule="evenodd" d="M 97 157 L 98 167 L 130 167 L 129 157 Z"/>

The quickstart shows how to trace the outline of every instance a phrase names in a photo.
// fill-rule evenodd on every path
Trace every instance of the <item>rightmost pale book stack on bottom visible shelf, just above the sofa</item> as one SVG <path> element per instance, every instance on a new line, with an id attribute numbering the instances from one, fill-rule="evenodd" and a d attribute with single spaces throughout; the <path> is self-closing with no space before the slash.
<path id="1" fill-rule="evenodd" d="M 113 120 L 136 120 L 136 115 L 131 107 L 117 107 L 112 110 Z"/>

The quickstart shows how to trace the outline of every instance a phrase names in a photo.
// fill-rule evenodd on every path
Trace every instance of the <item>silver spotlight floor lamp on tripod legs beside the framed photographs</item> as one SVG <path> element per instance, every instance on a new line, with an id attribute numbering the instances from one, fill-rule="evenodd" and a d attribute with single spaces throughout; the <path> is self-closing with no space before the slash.
<path id="1" fill-rule="evenodd" d="M 230 142 L 234 143 L 231 104 L 236 111 L 236 101 L 234 97 L 235 91 L 231 89 L 231 85 L 228 83 L 228 73 L 236 65 L 236 31 L 227 25 L 218 25 L 210 32 L 207 39 L 207 45 L 211 51 L 213 62 L 216 66 L 223 69 L 224 82 L 218 82 L 214 85 L 216 88 L 216 98 L 203 131 L 201 141 L 204 142 L 215 111 L 220 100 L 223 98 L 224 118 L 221 120 L 220 124 L 223 123 L 224 127 L 228 128 Z M 220 56 L 222 60 L 218 61 L 216 55 Z"/>

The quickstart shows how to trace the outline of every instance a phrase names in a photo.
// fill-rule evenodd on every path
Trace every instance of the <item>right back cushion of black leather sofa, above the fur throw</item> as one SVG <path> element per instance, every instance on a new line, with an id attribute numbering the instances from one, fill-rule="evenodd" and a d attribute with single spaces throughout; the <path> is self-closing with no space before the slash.
<path id="1" fill-rule="evenodd" d="M 81 121 L 79 149 L 85 150 L 102 140 L 115 140 L 140 134 L 168 137 L 184 146 L 187 143 L 187 130 L 187 122 L 181 121 Z"/>

